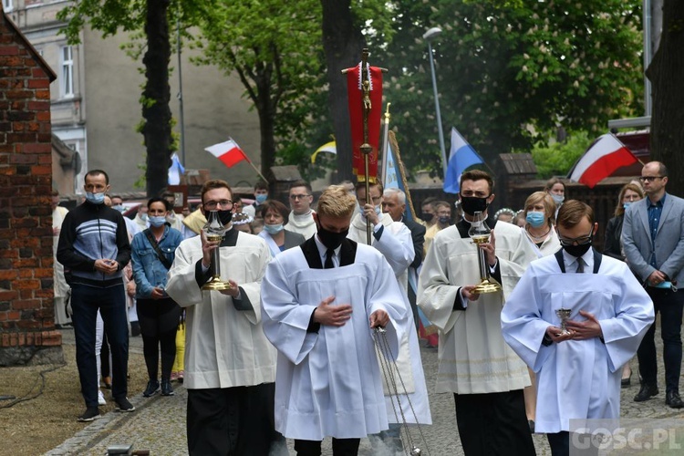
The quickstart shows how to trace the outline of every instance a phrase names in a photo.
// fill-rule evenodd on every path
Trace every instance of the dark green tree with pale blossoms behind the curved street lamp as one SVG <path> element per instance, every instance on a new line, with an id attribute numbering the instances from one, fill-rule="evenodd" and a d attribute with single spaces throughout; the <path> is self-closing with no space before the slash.
<path id="1" fill-rule="evenodd" d="M 639 0 L 397 2 L 386 89 L 409 169 L 441 174 L 430 66 L 433 42 L 445 134 L 455 126 L 493 162 L 529 150 L 537 131 L 563 126 L 591 135 L 641 100 Z M 449 138 L 446 138 L 447 143 Z M 447 146 L 448 147 L 448 146 Z"/>

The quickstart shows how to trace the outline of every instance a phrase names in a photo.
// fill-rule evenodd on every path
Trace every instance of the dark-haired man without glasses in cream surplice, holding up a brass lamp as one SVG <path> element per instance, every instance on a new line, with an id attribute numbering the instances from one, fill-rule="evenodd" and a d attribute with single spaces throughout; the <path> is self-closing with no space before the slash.
<path id="1" fill-rule="evenodd" d="M 536 258 L 520 228 L 487 219 L 492 235 L 480 248 L 503 291 L 474 293 L 481 282 L 479 254 L 468 231 L 475 212 L 487 216 L 493 189 L 494 181 L 484 171 L 461 174 L 463 220 L 437 233 L 430 245 L 420 272 L 418 305 L 440 330 L 437 392 L 454 393 L 465 454 L 532 455 L 523 399 L 530 375 L 501 332 L 506 297 L 524 266 Z"/>

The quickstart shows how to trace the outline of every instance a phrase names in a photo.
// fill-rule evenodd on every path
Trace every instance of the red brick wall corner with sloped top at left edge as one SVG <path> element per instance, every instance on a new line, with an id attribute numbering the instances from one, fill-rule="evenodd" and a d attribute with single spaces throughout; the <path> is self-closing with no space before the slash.
<path id="1" fill-rule="evenodd" d="M 52 291 L 50 81 L 55 74 L 2 14 L 0 24 L 0 366 L 62 357 Z"/>

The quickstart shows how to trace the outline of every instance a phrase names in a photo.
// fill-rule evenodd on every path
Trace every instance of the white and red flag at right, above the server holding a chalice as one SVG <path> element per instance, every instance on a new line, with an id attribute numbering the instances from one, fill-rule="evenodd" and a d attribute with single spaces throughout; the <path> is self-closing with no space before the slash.
<path id="1" fill-rule="evenodd" d="M 593 189 L 618 168 L 638 161 L 631 150 L 613 134 L 607 133 L 595 140 L 585 154 L 575 163 L 568 173 L 571 181 L 584 183 Z"/>

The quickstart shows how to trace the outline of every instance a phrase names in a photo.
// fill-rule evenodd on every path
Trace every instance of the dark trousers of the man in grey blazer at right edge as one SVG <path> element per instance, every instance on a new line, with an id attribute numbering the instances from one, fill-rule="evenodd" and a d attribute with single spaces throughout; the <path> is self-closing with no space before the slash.
<path id="1" fill-rule="evenodd" d="M 647 287 L 658 315 L 660 312 L 660 334 L 663 339 L 663 362 L 665 364 L 665 388 L 679 392 L 681 372 L 681 316 L 684 308 L 684 291 L 672 292 Z M 658 384 L 658 361 L 656 358 L 656 323 L 648 328 L 637 350 L 639 375 L 648 385 Z"/>

